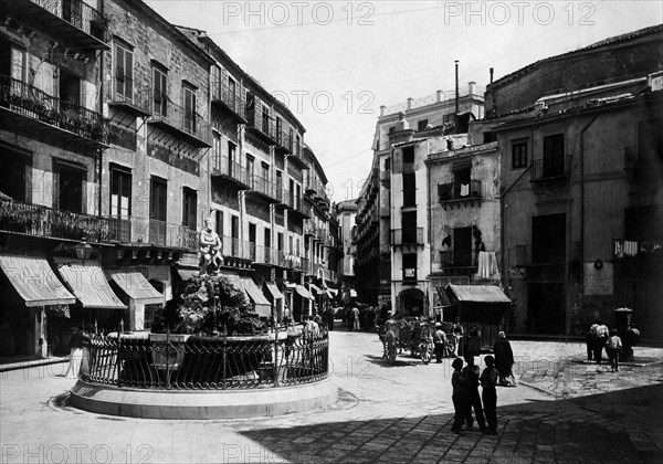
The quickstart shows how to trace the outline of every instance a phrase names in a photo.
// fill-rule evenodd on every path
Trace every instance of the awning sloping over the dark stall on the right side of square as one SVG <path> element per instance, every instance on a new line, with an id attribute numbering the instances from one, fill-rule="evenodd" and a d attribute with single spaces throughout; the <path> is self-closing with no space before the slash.
<path id="1" fill-rule="evenodd" d="M 498 324 L 511 299 L 502 288 L 492 285 L 453 285 L 445 288 L 449 300 L 457 305 L 464 323 Z"/>

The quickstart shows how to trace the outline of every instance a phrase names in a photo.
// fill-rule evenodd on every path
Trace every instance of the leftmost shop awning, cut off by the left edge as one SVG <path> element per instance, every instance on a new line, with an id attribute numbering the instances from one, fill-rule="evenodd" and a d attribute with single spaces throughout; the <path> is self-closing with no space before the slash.
<path id="1" fill-rule="evenodd" d="M 76 303 L 43 257 L 0 254 L 0 267 L 28 307 Z"/>

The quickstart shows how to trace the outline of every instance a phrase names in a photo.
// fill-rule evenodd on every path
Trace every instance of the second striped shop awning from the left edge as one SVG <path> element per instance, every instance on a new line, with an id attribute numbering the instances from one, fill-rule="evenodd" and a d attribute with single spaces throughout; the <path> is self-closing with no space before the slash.
<path id="1" fill-rule="evenodd" d="M 127 308 L 113 293 L 98 261 L 70 257 L 55 257 L 53 261 L 57 265 L 57 273 L 84 308 Z"/>

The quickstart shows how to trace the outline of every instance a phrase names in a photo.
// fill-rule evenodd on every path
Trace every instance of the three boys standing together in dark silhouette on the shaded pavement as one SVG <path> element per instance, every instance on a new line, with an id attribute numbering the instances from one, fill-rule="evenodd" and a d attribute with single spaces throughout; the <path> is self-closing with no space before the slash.
<path id="1" fill-rule="evenodd" d="M 488 435 L 497 434 L 497 369 L 495 369 L 495 358 L 486 356 L 486 365 L 480 375 L 480 367 L 474 363 L 474 356 L 465 355 L 467 366 L 463 367 L 463 360 L 456 358 L 452 362 L 453 375 L 451 376 L 451 386 L 453 387 L 453 408 L 454 419 L 451 428 L 452 432 L 463 435 L 463 422 L 467 431 L 473 430 L 474 418 L 472 409 L 476 415 L 476 422 L 481 432 Z M 482 386 L 481 398 L 478 396 L 478 386 Z M 482 407 L 483 402 L 483 407 Z M 484 416 L 485 414 L 485 416 Z M 487 422 L 487 426 L 486 426 Z"/>

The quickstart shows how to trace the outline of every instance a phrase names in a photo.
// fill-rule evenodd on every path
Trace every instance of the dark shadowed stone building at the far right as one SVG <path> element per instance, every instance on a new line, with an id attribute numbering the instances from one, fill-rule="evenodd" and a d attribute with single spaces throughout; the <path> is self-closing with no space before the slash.
<path id="1" fill-rule="evenodd" d="M 627 305 L 643 338 L 663 338 L 662 31 L 541 60 L 487 87 L 516 331 L 612 326 Z"/>

